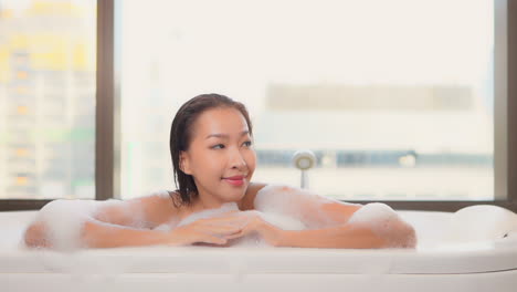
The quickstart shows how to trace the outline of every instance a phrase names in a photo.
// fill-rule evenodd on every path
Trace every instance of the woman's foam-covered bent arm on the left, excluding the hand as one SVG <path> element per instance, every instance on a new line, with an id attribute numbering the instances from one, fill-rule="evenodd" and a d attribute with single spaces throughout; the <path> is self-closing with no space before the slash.
<path id="1" fill-rule="evenodd" d="M 161 243 L 163 232 L 150 228 L 170 219 L 173 208 L 163 194 L 127 201 L 55 200 L 40 210 L 24 241 L 28 247 L 56 249 Z"/>

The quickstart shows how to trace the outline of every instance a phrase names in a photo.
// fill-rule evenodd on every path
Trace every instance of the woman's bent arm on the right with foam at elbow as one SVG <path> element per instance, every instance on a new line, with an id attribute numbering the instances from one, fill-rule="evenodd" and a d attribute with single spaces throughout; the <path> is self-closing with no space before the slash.
<path id="1" fill-rule="evenodd" d="M 258 231 L 271 244 L 303 248 L 414 248 L 415 231 L 384 204 L 347 204 L 305 189 L 261 184 L 257 210 L 295 217 L 308 230 L 282 230 L 256 218 L 242 233 Z"/>

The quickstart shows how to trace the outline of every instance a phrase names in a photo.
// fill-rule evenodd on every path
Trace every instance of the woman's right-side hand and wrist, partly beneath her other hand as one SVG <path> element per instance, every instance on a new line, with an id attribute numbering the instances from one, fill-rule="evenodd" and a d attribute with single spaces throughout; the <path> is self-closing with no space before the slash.
<path id="1" fill-rule="evenodd" d="M 244 237 L 257 232 L 270 246 L 282 247 L 286 231 L 265 221 L 257 211 L 243 211 L 244 227 L 240 232 L 228 236 L 228 239 Z"/>

